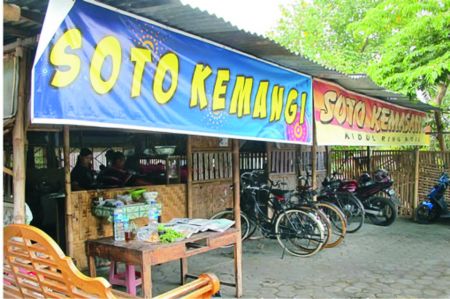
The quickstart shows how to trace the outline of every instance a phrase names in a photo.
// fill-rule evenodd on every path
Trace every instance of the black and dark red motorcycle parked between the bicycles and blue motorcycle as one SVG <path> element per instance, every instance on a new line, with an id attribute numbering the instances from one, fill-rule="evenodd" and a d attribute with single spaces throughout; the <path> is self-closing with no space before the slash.
<path id="1" fill-rule="evenodd" d="M 392 188 L 394 181 L 386 170 L 377 170 L 373 178 L 368 173 L 363 173 L 358 181 L 338 182 L 338 191 L 352 191 L 363 204 L 365 214 L 373 224 L 389 226 L 394 223 L 400 200 Z M 386 196 L 380 196 L 380 193 Z"/>

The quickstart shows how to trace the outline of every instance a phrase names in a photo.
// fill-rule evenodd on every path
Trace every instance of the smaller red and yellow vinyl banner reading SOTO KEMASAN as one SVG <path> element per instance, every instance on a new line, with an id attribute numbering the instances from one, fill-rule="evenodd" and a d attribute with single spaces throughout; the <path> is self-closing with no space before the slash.
<path id="1" fill-rule="evenodd" d="M 426 114 L 314 80 L 319 145 L 426 145 Z"/>

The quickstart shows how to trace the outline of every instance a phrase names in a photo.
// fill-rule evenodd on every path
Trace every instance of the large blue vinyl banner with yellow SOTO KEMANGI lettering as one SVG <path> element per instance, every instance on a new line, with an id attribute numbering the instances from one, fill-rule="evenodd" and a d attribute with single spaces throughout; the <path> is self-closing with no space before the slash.
<path id="1" fill-rule="evenodd" d="M 309 76 L 103 4 L 51 0 L 32 121 L 311 144 L 311 85 Z"/>

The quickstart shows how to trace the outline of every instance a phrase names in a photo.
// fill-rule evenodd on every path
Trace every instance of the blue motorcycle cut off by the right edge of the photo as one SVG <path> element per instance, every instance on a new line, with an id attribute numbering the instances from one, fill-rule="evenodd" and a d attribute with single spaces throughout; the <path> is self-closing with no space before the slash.
<path id="1" fill-rule="evenodd" d="M 445 191 L 450 184 L 448 174 L 443 172 L 438 183 L 431 189 L 427 199 L 423 200 L 416 209 L 416 220 L 421 224 L 436 221 L 441 216 L 449 214 Z"/>

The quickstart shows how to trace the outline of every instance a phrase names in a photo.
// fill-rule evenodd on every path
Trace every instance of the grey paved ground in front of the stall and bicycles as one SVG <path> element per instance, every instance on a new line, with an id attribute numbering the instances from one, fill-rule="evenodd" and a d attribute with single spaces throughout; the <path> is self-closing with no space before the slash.
<path id="1" fill-rule="evenodd" d="M 190 272 L 232 281 L 231 250 L 189 260 Z M 177 286 L 178 263 L 153 270 L 153 292 Z M 450 221 L 390 227 L 366 223 L 341 246 L 310 258 L 286 255 L 276 240 L 244 242 L 244 298 L 450 298 Z M 223 297 L 234 289 L 224 286 Z"/>

